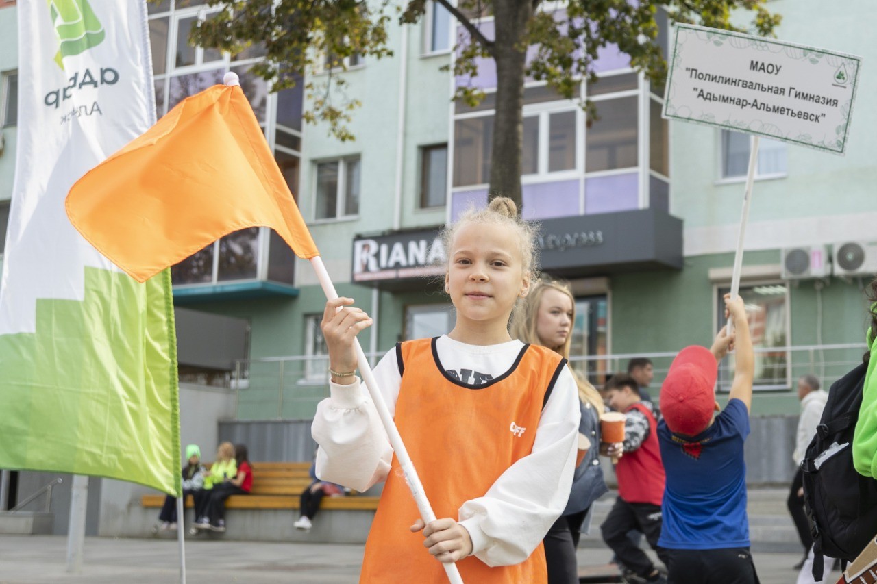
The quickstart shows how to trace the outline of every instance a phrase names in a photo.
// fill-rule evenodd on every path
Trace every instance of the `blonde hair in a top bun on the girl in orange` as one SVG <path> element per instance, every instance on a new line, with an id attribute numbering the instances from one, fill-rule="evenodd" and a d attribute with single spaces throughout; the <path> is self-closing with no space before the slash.
<path id="1" fill-rule="evenodd" d="M 497 196 L 488 203 L 486 209 L 476 210 L 474 207 L 469 207 L 467 210 L 463 211 L 463 214 L 460 215 L 457 221 L 453 224 L 446 225 L 445 228 L 441 230 L 439 237 L 441 238 L 442 244 L 445 246 L 447 256 L 445 264 L 446 274 L 453 255 L 451 253 L 453 238 L 457 235 L 457 232 L 460 231 L 460 227 L 471 223 L 502 225 L 515 233 L 520 243 L 524 277 L 528 281 L 535 281 L 538 278 L 538 249 L 536 247 L 538 224 L 524 221 L 524 219 L 517 214 L 517 205 L 515 202 L 506 196 Z M 517 313 L 522 310 L 524 300 L 524 298 L 518 298 L 515 302 L 515 306 L 511 310 L 511 320 L 514 320 Z"/>

